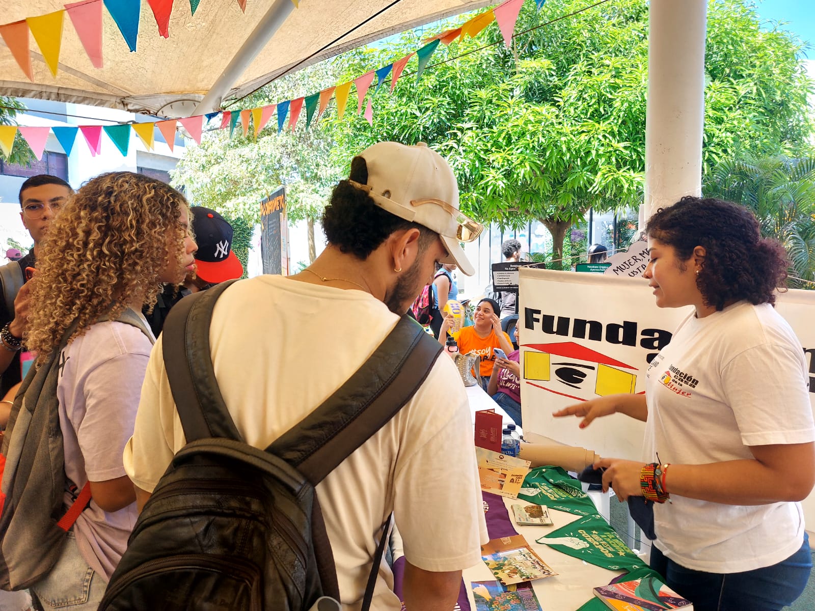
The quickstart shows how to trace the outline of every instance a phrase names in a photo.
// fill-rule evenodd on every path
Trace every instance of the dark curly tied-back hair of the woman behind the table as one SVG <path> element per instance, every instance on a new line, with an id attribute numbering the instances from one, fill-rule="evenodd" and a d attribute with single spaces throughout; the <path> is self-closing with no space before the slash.
<path id="1" fill-rule="evenodd" d="M 706 306 L 723 310 L 733 301 L 775 303 L 785 288 L 789 262 L 777 240 L 762 238 L 759 222 L 747 208 L 713 198 L 683 197 L 651 217 L 645 232 L 668 244 L 687 261 L 694 248 L 705 249 L 696 285 Z"/>

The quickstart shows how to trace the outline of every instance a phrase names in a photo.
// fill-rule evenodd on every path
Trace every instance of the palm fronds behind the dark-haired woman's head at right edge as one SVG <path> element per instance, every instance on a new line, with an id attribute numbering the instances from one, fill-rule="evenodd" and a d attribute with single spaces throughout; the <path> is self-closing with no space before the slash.
<path id="1" fill-rule="evenodd" d="M 762 235 L 786 248 L 789 286 L 815 288 L 815 157 L 741 153 L 707 174 L 704 193 L 756 213 Z"/>

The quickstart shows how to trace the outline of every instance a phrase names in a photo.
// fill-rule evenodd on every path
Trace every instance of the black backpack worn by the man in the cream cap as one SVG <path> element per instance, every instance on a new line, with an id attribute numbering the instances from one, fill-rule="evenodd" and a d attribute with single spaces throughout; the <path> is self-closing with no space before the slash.
<path id="1" fill-rule="evenodd" d="M 212 310 L 230 284 L 170 310 L 165 367 L 187 445 L 145 504 L 99 611 L 340 609 L 324 598 L 339 591 L 315 486 L 412 397 L 441 345 L 404 316 L 337 392 L 259 450 L 241 440 L 210 357 Z"/>

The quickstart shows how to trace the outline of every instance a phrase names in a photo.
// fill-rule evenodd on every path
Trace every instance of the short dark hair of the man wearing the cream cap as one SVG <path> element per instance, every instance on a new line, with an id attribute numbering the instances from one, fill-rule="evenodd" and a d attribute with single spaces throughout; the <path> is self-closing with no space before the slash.
<path id="1" fill-rule="evenodd" d="M 363 185 L 368 184 L 368 164 L 363 157 L 351 160 L 348 178 Z M 381 209 L 368 193 L 347 180 L 341 180 L 334 187 L 323 213 L 322 224 L 328 244 L 339 248 L 341 253 L 353 254 L 360 261 L 367 259 L 394 231 L 418 229 L 421 232 L 420 248 L 427 248 L 438 237 L 424 225 L 405 221 Z"/>

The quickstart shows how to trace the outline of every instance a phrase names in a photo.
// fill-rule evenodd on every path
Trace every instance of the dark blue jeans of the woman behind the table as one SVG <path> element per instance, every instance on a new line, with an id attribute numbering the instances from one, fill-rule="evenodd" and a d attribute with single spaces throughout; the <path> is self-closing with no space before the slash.
<path id="1" fill-rule="evenodd" d="M 807 585 L 812 569 L 809 539 L 798 552 L 777 565 L 742 573 L 705 573 L 685 569 L 651 546 L 651 568 L 667 586 L 694 604 L 694 611 L 780 611 Z"/>

